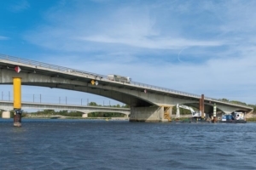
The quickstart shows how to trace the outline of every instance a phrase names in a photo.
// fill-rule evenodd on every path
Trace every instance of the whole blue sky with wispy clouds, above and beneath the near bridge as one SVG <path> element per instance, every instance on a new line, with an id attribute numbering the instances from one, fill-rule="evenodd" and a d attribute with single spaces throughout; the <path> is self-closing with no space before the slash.
<path id="1" fill-rule="evenodd" d="M 0 54 L 255 105 L 255 7 L 253 0 L 0 1 Z M 7 99 L 12 87 L 0 91 Z M 40 94 L 44 102 L 118 103 L 22 87 L 24 100 Z"/>

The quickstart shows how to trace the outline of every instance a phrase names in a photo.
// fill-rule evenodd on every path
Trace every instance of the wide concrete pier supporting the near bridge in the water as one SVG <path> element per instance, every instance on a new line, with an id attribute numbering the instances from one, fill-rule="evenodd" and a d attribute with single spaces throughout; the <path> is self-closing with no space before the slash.
<path id="1" fill-rule="evenodd" d="M 130 122 L 168 122 L 170 112 L 170 107 L 164 106 L 131 107 Z"/>

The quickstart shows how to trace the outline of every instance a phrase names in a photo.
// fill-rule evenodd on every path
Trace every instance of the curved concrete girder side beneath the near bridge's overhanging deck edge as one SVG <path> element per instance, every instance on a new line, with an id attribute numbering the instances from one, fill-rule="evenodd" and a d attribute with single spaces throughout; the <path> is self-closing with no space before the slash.
<path id="1" fill-rule="evenodd" d="M 122 84 L 113 85 L 101 80 L 97 80 L 99 84 L 92 85 L 91 79 L 84 78 L 82 80 L 73 80 L 63 77 L 53 77 L 52 75 L 44 75 L 31 72 L 20 72 L 8 69 L 1 69 L 1 81 L 3 84 L 11 84 L 12 77 L 21 77 L 22 85 L 48 87 L 48 88 L 62 88 L 70 89 L 90 94 L 97 94 L 110 99 L 118 100 L 131 107 L 152 106 L 152 105 L 166 105 L 173 106 L 177 103 L 189 102 L 191 99 L 178 98 L 178 96 L 171 94 L 157 94 L 154 91 L 147 90 L 144 93 L 144 88 L 124 87 Z"/>

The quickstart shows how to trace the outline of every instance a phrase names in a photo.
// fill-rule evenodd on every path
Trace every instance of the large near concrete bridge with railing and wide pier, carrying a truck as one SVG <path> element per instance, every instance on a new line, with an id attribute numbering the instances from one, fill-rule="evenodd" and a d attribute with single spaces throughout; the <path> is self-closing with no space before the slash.
<path id="1" fill-rule="evenodd" d="M 15 71 L 19 66 L 21 71 Z M 12 84 L 13 77 L 20 77 L 22 85 L 62 88 L 115 99 L 131 106 L 130 121 L 170 121 L 172 107 L 177 104 L 199 108 L 201 95 L 160 88 L 122 77 L 109 77 L 88 71 L 79 71 L 29 59 L 0 54 L 0 84 Z M 253 111 L 247 105 L 236 105 L 219 99 L 204 98 L 206 113 L 213 111 Z"/>

